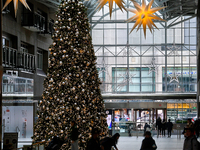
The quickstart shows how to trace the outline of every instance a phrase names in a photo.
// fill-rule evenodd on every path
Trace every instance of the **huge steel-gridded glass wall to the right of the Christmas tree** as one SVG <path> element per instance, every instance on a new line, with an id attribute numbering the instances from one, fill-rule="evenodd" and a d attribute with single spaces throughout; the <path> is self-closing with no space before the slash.
<path id="1" fill-rule="evenodd" d="M 129 0 L 126 4 L 133 7 Z M 130 33 L 134 23 L 125 20 L 132 13 L 123 13 L 114 5 L 110 19 L 108 8 L 106 5 L 90 19 L 97 66 L 105 73 L 103 93 L 197 91 L 196 18 L 155 21 L 159 30 L 151 33 L 147 29 L 145 38 L 142 27 Z"/>

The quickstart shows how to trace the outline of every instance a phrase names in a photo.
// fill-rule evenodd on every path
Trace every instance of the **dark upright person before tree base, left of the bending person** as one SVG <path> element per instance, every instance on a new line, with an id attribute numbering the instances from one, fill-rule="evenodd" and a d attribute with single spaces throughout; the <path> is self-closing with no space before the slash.
<path id="1" fill-rule="evenodd" d="M 86 150 L 101 150 L 98 128 L 92 129 L 92 138 L 87 143 Z"/>

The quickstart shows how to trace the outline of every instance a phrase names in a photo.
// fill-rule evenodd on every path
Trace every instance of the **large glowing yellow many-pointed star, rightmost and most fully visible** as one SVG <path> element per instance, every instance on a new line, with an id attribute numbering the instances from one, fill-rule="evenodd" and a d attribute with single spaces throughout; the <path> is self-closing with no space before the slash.
<path id="1" fill-rule="evenodd" d="M 166 21 L 166 20 L 163 20 L 160 17 L 153 14 L 153 13 L 165 8 L 165 7 L 155 7 L 155 8 L 151 9 L 151 6 L 152 6 L 154 0 L 151 0 L 148 5 L 146 5 L 145 0 L 142 0 L 142 6 L 140 6 L 134 0 L 131 0 L 131 1 L 133 2 L 134 6 L 136 8 L 136 9 L 127 8 L 128 11 L 135 14 L 133 17 L 126 20 L 127 22 L 136 21 L 131 32 L 137 27 L 137 25 L 138 25 L 137 31 L 139 30 L 141 25 L 143 25 L 144 36 L 146 38 L 146 26 L 149 27 L 149 30 L 151 31 L 151 33 L 154 30 L 153 26 L 157 28 L 157 26 L 154 24 L 153 20 Z"/>

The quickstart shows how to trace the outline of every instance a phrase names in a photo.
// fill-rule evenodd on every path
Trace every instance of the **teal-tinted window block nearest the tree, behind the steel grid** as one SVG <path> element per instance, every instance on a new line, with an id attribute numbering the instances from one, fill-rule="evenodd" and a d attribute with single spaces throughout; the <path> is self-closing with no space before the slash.
<path id="1" fill-rule="evenodd" d="M 154 92 L 155 73 L 148 68 L 112 67 L 112 92 Z"/>

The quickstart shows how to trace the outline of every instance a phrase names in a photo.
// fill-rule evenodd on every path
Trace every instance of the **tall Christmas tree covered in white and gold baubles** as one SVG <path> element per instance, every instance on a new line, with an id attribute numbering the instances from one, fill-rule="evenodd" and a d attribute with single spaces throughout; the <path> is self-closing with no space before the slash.
<path id="1" fill-rule="evenodd" d="M 80 133 L 79 147 L 84 150 L 92 127 L 101 129 L 101 137 L 107 135 L 86 8 L 79 0 L 62 0 L 56 17 L 33 140 L 64 138 L 69 134 L 70 120 L 75 120 Z M 70 149 L 70 143 L 63 149 Z"/>

